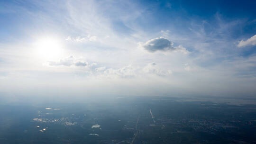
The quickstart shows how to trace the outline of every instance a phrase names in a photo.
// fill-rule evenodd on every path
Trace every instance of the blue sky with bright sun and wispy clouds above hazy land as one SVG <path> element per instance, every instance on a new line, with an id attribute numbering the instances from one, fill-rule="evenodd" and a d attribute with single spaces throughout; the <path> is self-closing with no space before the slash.
<path id="1" fill-rule="evenodd" d="M 255 0 L 0 0 L 0 99 L 256 98 Z"/>

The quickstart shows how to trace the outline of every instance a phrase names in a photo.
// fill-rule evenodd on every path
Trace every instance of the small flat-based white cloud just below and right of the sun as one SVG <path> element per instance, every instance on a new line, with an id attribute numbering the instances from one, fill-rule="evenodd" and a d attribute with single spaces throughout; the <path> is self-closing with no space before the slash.
<path id="1" fill-rule="evenodd" d="M 87 66 L 88 63 L 84 61 L 78 61 L 75 57 L 69 56 L 58 61 L 47 61 L 49 66 Z"/>

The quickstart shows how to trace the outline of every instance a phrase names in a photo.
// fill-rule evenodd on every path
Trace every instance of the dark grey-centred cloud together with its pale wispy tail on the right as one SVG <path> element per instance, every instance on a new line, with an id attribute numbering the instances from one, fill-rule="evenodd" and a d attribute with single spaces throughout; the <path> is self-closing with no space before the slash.
<path id="1" fill-rule="evenodd" d="M 154 53 L 156 51 L 179 51 L 183 54 L 188 54 L 189 51 L 186 50 L 182 45 L 173 46 L 174 43 L 165 37 L 157 37 L 147 41 L 145 44 L 140 44 L 148 52 Z"/>

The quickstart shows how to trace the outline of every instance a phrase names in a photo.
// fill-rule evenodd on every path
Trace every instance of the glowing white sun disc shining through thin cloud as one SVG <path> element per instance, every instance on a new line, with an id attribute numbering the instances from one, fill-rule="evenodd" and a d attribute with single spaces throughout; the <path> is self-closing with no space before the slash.
<path id="1" fill-rule="evenodd" d="M 40 38 L 36 42 L 37 55 L 43 59 L 55 59 L 62 53 L 61 42 L 57 38 Z"/>

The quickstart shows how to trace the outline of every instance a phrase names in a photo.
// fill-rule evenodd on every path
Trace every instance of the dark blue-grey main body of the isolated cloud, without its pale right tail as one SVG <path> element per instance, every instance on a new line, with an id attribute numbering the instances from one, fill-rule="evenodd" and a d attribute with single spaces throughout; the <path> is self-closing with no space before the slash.
<path id="1" fill-rule="evenodd" d="M 147 41 L 143 47 L 149 52 L 175 50 L 174 43 L 164 37 L 157 37 Z"/>

